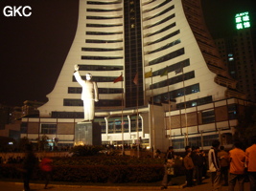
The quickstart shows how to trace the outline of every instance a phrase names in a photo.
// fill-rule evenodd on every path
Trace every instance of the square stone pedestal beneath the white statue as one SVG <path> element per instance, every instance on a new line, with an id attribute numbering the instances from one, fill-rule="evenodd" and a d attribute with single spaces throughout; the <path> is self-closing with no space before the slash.
<path id="1" fill-rule="evenodd" d="M 75 126 L 75 145 L 102 145 L 102 129 L 93 121 L 78 122 Z"/>

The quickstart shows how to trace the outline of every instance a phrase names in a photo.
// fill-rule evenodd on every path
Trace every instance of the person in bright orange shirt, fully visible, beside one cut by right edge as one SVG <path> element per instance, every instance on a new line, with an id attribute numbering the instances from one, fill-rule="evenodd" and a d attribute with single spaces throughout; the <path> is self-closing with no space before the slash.
<path id="1" fill-rule="evenodd" d="M 234 147 L 234 149 L 229 151 L 230 169 L 228 191 L 234 191 L 236 182 L 239 184 L 239 190 L 244 191 L 245 153 L 241 149 L 242 143 L 240 141 L 236 141 Z"/>

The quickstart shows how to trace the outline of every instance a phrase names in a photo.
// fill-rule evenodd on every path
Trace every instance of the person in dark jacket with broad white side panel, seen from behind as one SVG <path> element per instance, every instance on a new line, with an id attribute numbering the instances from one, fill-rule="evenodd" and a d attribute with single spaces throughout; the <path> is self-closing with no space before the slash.
<path id="1" fill-rule="evenodd" d="M 218 159 L 220 141 L 214 140 L 212 148 L 208 152 L 209 171 L 212 177 L 213 190 L 221 190 L 221 166 Z"/>

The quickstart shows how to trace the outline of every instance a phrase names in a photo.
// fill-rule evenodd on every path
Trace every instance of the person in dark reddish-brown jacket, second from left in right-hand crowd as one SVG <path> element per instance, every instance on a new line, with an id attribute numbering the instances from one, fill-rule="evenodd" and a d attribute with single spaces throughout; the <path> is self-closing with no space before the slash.
<path id="1" fill-rule="evenodd" d="M 192 187 L 194 163 L 191 158 L 191 151 L 188 151 L 186 157 L 184 158 L 184 166 L 186 172 L 187 187 Z"/>

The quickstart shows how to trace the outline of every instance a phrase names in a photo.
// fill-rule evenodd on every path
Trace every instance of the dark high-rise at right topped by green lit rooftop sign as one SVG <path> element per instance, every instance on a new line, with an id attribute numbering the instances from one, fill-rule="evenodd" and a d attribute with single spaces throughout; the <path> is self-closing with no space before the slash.
<path id="1" fill-rule="evenodd" d="M 227 63 L 229 73 L 238 80 L 237 88 L 246 94 L 247 100 L 256 101 L 256 59 L 253 49 L 249 12 L 235 15 L 233 35 L 215 40 L 221 57 Z"/>

